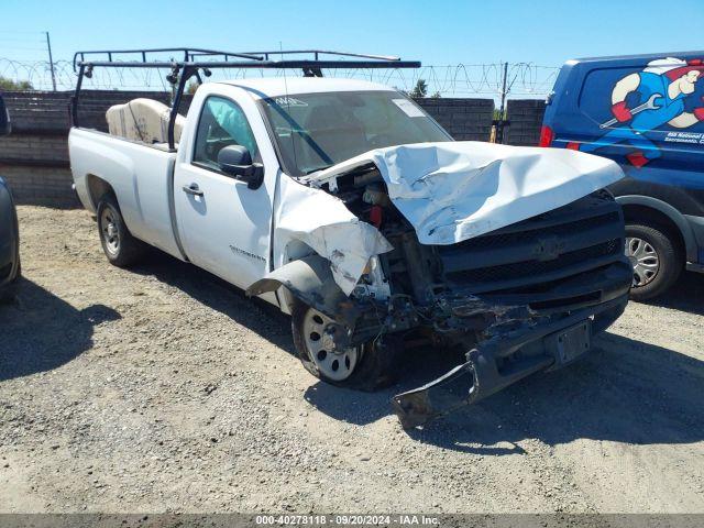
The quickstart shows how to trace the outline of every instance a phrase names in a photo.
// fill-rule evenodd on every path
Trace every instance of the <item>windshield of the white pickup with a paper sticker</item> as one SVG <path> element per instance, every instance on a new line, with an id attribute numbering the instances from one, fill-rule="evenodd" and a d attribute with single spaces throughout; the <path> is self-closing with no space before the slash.
<path id="1" fill-rule="evenodd" d="M 452 141 L 396 91 L 297 94 L 263 99 L 284 169 L 302 176 L 373 148 Z"/>

